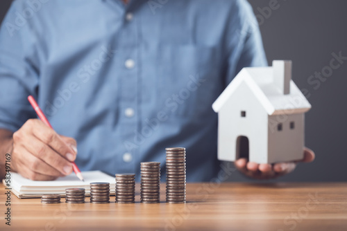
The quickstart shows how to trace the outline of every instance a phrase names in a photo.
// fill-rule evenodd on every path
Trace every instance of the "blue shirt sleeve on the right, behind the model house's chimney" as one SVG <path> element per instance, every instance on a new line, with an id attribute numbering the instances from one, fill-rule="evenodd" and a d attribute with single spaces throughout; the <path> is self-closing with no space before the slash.
<path id="1" fill-rule="evenodd" d="M 229 84 L 244 67 L 268 65 L 260 29 L 251 6 L 248 2 L 240 0 L 237 11 L 237 18 L 231 25 L 226 84 Z"/>

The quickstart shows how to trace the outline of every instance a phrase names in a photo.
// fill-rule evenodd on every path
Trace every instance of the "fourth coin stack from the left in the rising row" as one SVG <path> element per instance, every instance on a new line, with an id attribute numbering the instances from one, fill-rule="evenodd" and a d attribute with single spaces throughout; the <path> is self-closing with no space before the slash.
<path id="1" fill-rule="evenodd" d="M 135 174 L 116 174 L 116 202 L 135 203 Z"/>

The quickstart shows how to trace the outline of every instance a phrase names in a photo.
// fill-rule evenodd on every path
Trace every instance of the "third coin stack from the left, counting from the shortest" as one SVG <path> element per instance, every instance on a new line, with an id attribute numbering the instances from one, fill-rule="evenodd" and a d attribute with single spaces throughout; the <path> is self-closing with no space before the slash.
<path id="1" fill-rule="evenodd" d="M 90 183 L 90 203 L 110 203 L 110 183 Z"/>

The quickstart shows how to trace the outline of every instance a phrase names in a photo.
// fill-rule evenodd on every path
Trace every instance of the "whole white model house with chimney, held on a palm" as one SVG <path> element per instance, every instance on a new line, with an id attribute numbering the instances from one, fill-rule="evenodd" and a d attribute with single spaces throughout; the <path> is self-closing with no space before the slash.
<path id="1" fill-rule="evenodd" d="M 291 61 L 243 68 L 212 108 L 218 113 L 218 158 L 255 163 L 303 158 L 311 105 L 291 80 Z"/>

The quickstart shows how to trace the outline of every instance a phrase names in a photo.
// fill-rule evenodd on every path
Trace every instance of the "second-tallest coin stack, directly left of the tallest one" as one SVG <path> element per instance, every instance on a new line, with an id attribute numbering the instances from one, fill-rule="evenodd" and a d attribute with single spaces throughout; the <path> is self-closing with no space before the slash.
<path id="1" fill-rule="evenodd" d="M 141 163 L 141 203 L 160 202 L 160 163 Z"/>

